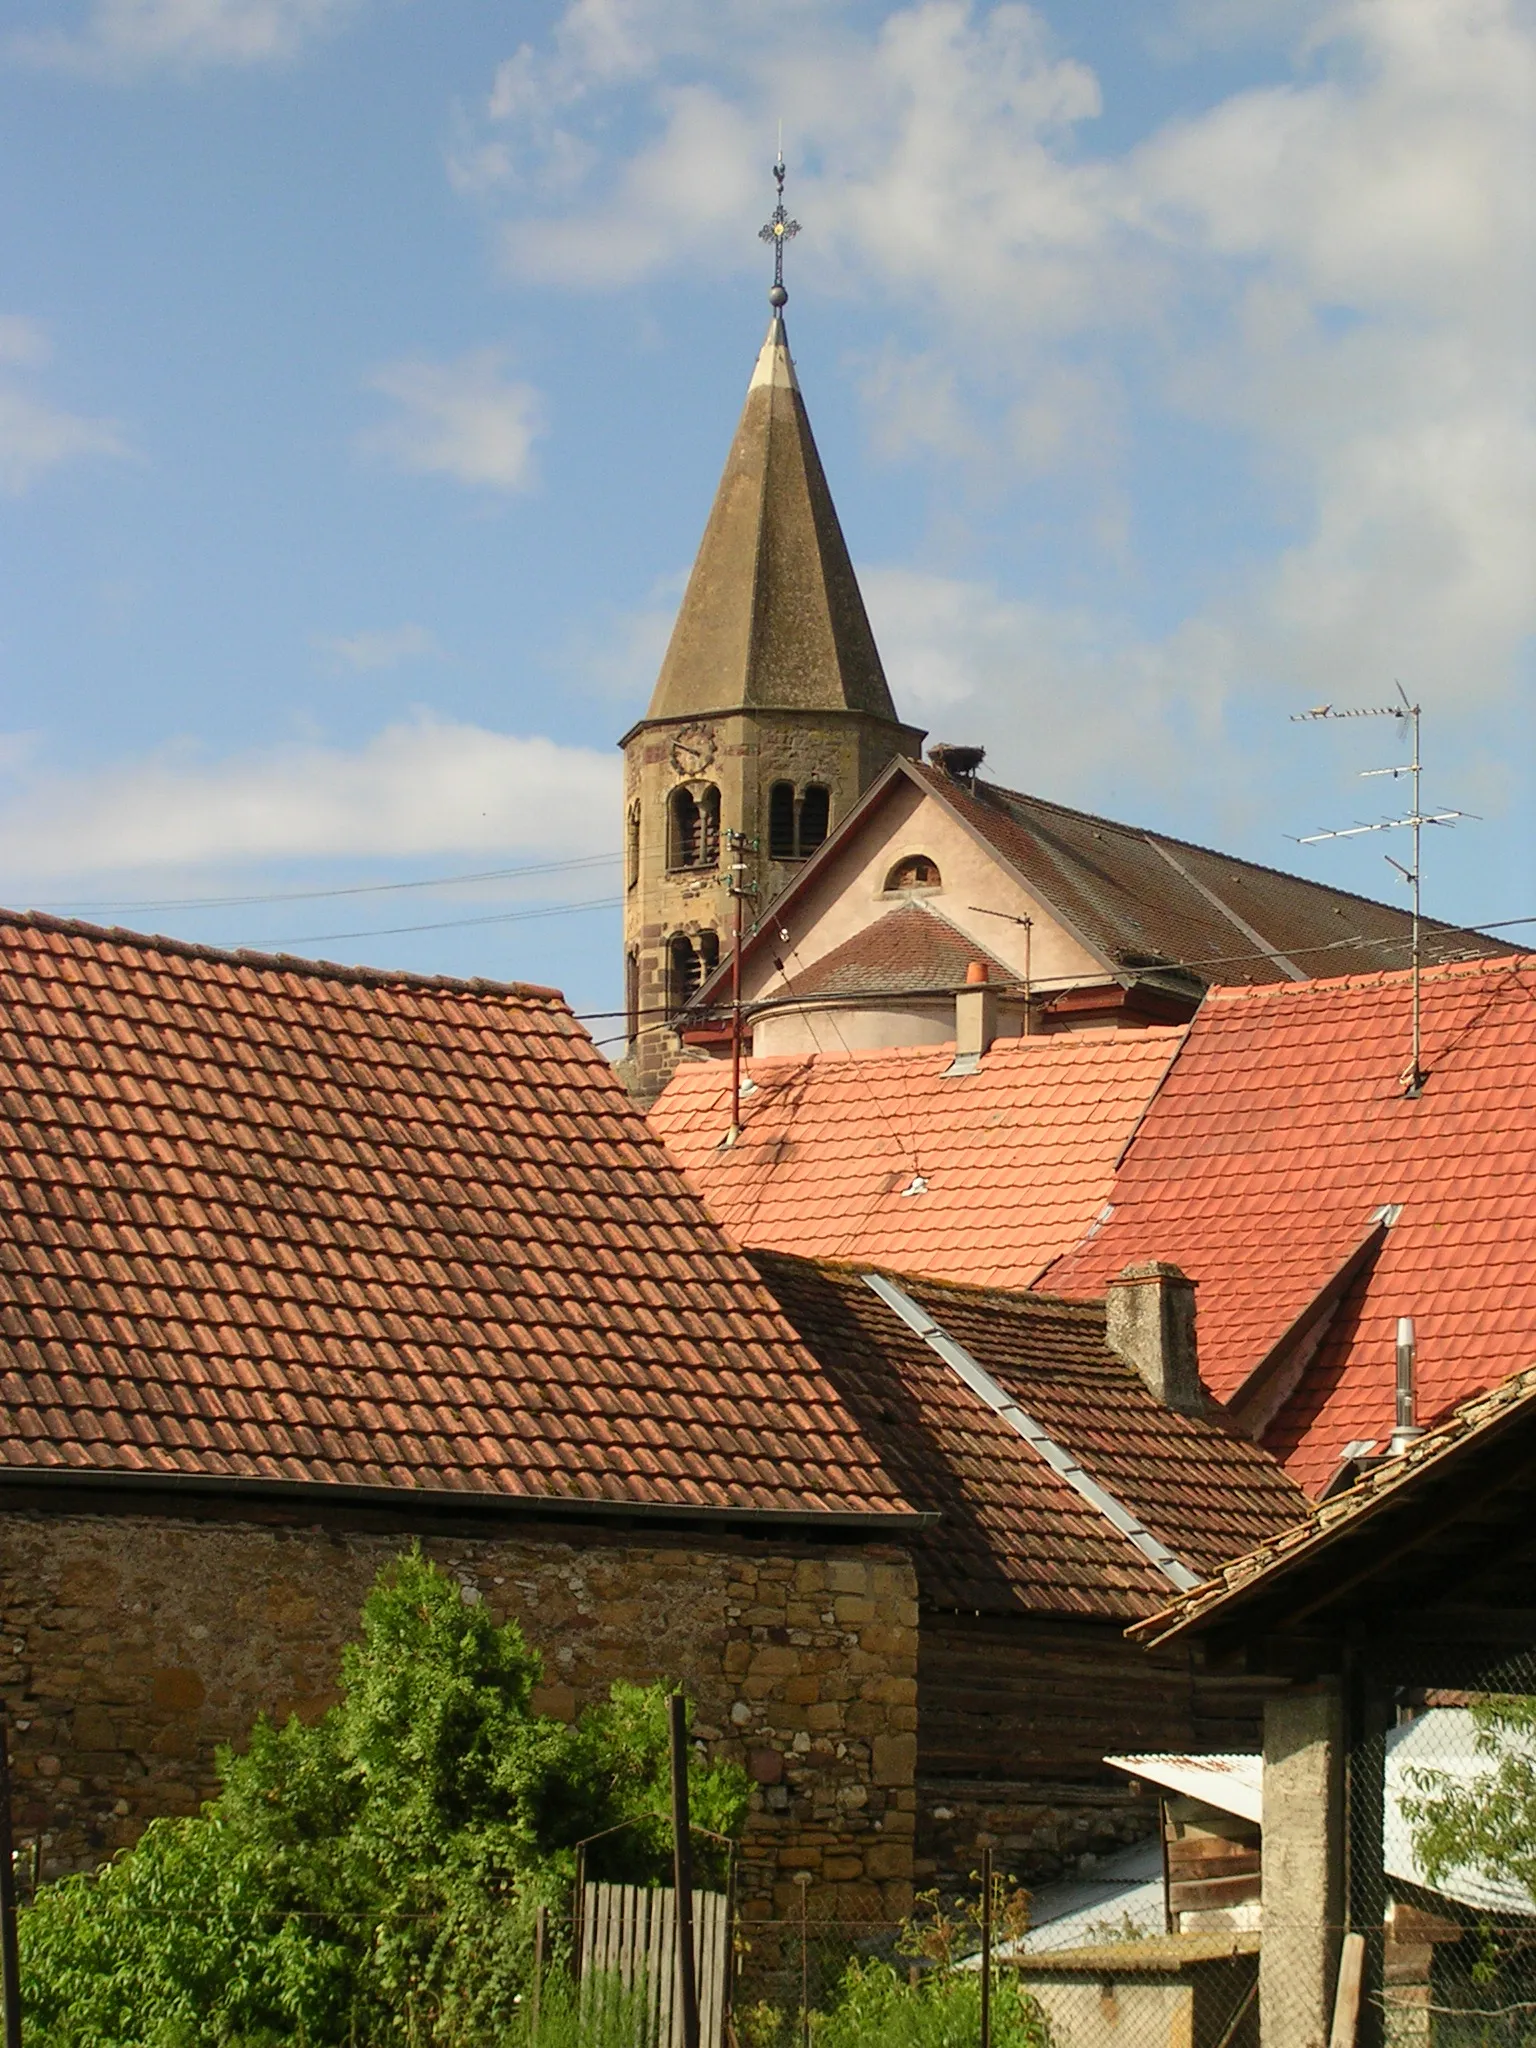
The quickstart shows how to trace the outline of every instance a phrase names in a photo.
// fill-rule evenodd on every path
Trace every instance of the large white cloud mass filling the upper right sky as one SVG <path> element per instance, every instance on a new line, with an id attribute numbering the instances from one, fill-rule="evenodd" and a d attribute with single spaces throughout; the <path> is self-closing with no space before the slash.
<path id="1" fill-rule="evenodd" d="M 1171 16 L 1188 47 L 1262 39 L 1276 82 L 1096 150 L 1098 80 L 1030 6 L 571 0 L 487 102 L 506 260 L 584 289 L 745 268 L 784 109 L 797 274 L 893 334 L 887 457 L 1087 481 L 1114 553 L 1130 489 L 1161 502 L 1137 426 L 1196 420 L 1247 463 L 1255 545 L 1163 653 L 1221 649 L 1233 694 L 1507 694 L 1536 633 L 1532 0 Z M 1053 643 L 1081 647 L 1071 616 Z"/>

